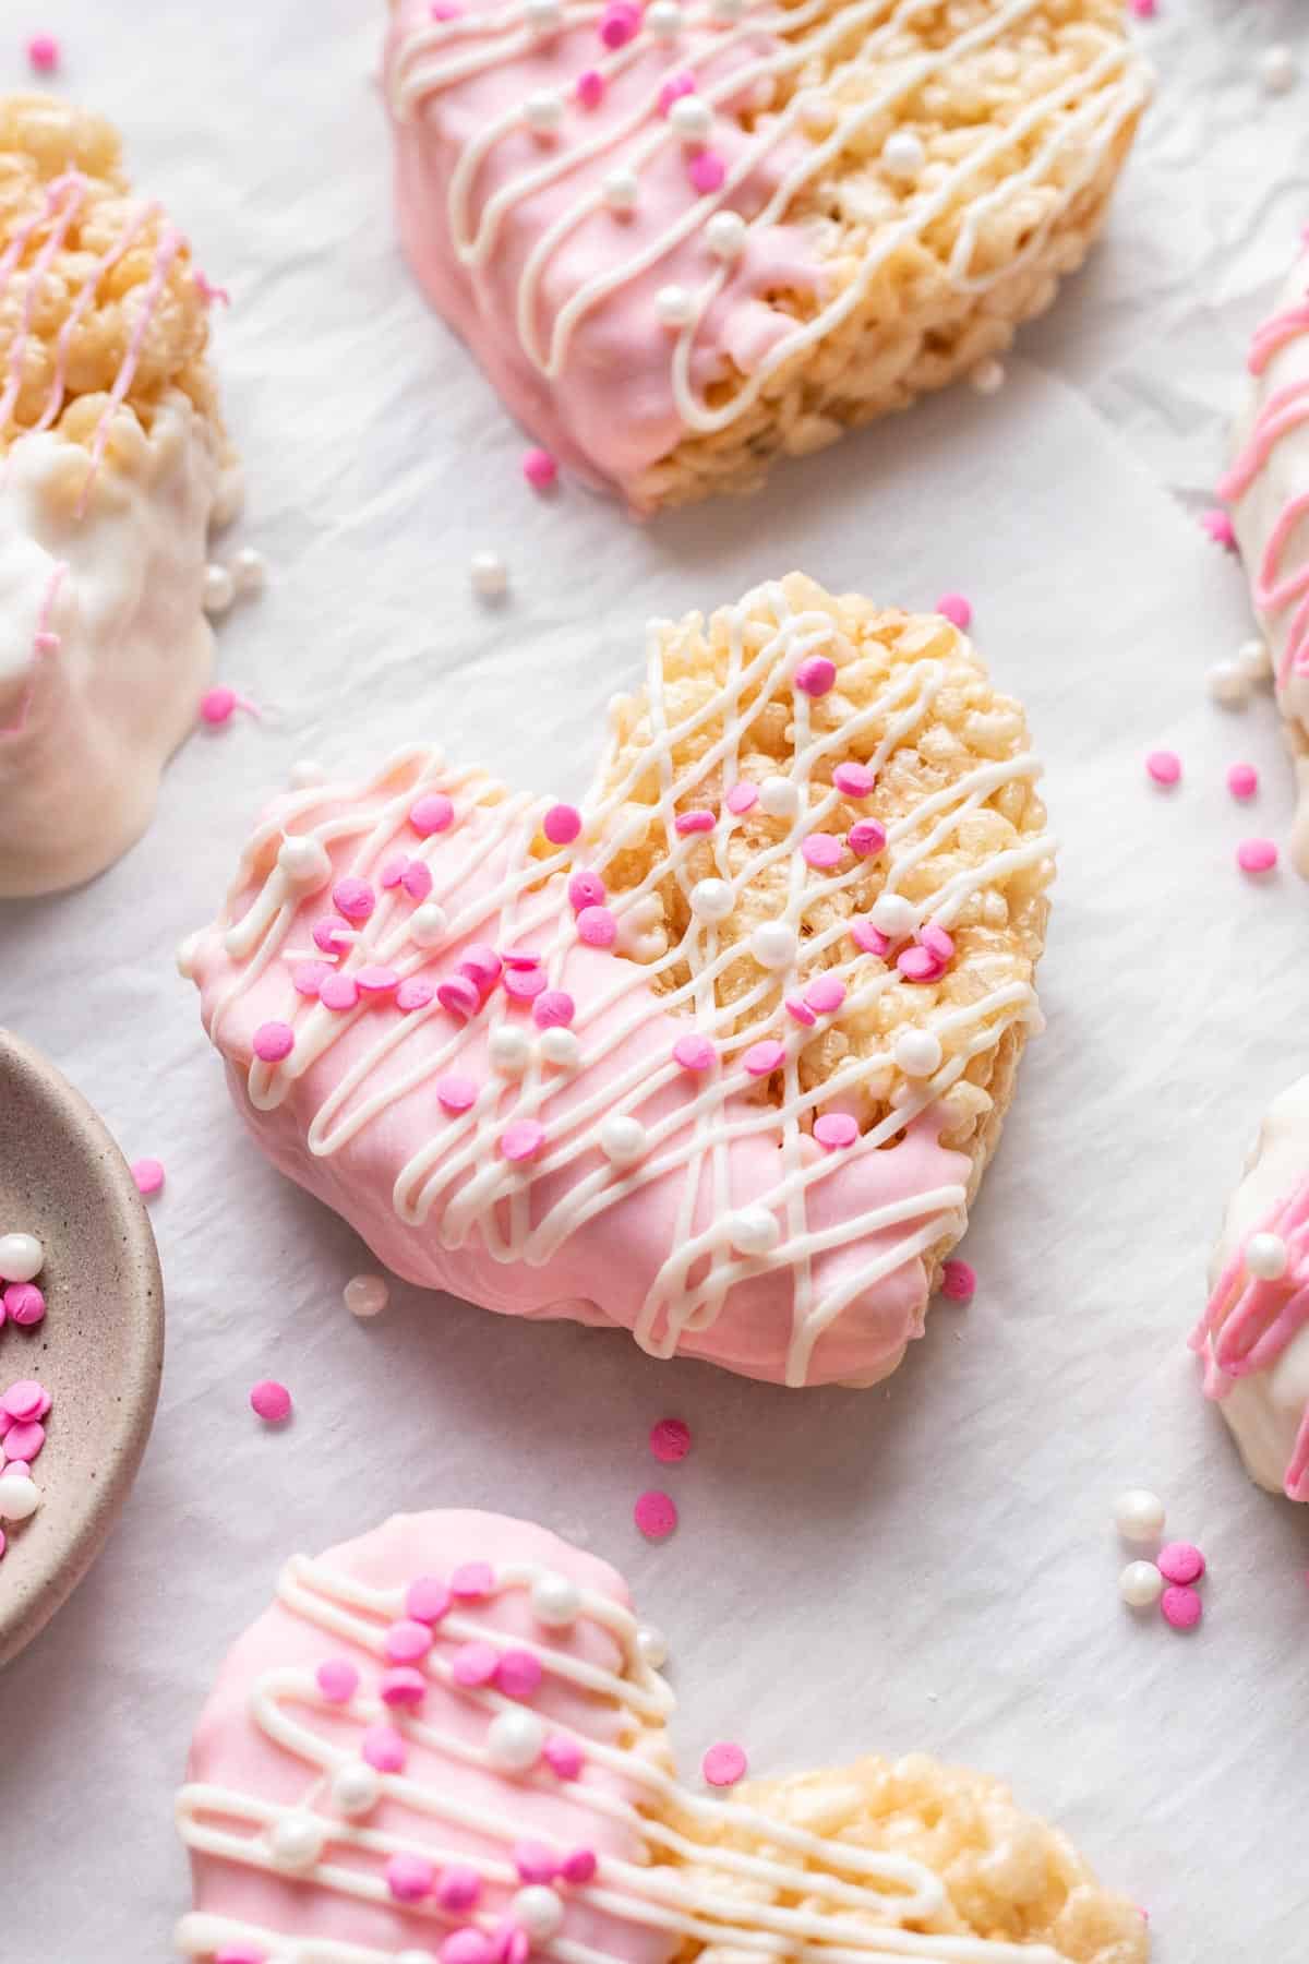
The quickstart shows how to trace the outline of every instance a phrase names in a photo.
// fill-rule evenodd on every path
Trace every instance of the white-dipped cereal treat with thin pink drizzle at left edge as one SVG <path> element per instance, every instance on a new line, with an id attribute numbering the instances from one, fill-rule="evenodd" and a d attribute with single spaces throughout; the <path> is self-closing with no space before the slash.
<path id="1" fill-rule="evenodd" d="M 239 497 L 208 304 L 104 118 L 0 98 L 0 896 L 118 858 L 194 723 Z"/>

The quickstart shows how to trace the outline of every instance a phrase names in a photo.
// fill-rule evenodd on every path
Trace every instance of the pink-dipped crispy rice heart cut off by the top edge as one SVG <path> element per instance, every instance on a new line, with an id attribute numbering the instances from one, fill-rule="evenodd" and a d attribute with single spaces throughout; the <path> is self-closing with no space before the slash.
<path id="1" fill-rule="evenodd" d="M 393 0 L 404 247 L 636 511 L 995 369 L 1148 98 L 1123 0 Z"/>

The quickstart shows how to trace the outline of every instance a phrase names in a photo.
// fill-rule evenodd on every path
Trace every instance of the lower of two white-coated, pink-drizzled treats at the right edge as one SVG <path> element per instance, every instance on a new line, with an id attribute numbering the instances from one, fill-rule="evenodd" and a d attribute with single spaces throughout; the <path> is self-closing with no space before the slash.
<path id="1" fill-rule="evenodd" d="M 1309 1078 L 1274 1098 L 1191 1337 L 1250 1479 L 1309 1500 Z"/>

